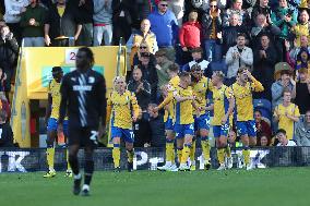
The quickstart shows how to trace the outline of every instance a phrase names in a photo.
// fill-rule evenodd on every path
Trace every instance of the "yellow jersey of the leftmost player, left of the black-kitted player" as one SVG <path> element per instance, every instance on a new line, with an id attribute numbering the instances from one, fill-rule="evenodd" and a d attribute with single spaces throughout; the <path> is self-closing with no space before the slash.
<path id="1" fill-rule="evenodd" d="M 56 82 L 56 80 L 51 80 L 47 93 L 51 96 L 51 113 L 50 118 L 57 119 L 59 118 L 59 108 L 60 108 L 60 85 L 61 83 Z"/>

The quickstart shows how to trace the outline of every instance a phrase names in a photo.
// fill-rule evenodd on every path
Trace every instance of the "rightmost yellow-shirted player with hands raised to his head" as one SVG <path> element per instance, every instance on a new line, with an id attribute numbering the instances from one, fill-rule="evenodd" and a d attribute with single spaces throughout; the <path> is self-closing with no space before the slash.
<path id="1" fill-rule="evenodd" d="M 249 146 L 257 145 L 257 128 L 254 121 L 253 92 L 263 92 L 263 85 L 257 81 L 247 68 L 237 72 L 237 81 L 230 86 L 235 99 L 235 117 L 237 133 L 243 145 L 242 155 L 247 170 L 252 169 Z"/>

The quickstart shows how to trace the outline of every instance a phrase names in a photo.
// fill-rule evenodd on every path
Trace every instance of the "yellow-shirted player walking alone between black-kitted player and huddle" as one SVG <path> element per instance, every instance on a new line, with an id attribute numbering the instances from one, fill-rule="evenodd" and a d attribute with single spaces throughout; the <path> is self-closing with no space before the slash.
<path id="1" fill-rule="evenodd" d="M 111 138 L 114 143 L 112 158 L 115 171 L 120 171 L 120 140 L 123 138 L 128 155 L 128 171 L 133 170 L 132 122 L 139 117 L 139 105 L 134 93 L 126 89 L 124 77 L 117 76 L 114 81 L 115 89 L 107 101 L 107 121 L 111 118 Z"/>

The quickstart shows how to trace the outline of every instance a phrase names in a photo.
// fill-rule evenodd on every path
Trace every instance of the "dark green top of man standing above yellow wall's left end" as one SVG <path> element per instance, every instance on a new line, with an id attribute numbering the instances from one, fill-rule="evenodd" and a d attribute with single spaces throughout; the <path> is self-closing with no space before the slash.
<path id="1" fill-rule="evenodd" d="M 21 16 L 21 27 L 23 37 L 44 37 L 44 24 L 46 19 L 46 9 L 37 4 L 35 8 L 28 5 Z M 29 20 L 35 19 L 36 25 L 29 25 Z"/>

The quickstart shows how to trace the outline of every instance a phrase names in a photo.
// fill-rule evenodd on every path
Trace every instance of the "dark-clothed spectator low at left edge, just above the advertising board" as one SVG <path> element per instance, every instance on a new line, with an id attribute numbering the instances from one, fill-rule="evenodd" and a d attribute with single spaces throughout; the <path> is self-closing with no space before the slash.
<path id="1" fill-rule="evenodd" d="M 7 122 L 7 113 L 0 110 L 0 147 L 13 147 L 13 132 L 9 122 Z"/>

